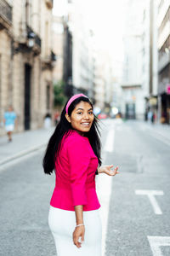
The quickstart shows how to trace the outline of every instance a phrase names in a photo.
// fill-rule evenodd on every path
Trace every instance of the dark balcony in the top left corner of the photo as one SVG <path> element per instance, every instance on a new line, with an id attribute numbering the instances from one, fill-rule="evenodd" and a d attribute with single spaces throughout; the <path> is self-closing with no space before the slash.
<path id="1" fill-rule="evenodd" d="M 0 0 L 0 29 L 9 29 L 11 25 L 12 7 L 5 0 Z"/>

